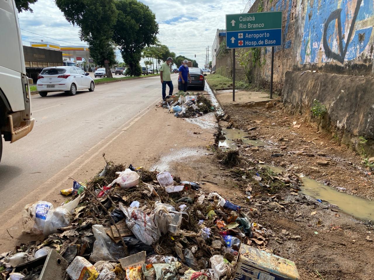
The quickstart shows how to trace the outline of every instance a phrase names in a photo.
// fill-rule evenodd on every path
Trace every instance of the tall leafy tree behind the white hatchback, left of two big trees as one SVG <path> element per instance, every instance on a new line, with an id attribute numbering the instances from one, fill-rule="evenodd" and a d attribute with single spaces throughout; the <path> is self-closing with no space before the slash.
<path id="1" fill-rule="evenodd" d="M 114 0 L 56 0 L 68 22 L 80 27 L 80 39 L 85 40 L 96 63 L 105 65 L 107 77 L 112 77 L 109 66 L 116 63 L 113 26 L 117 10 Z M 108 60 L 109 64 L 104 64 Z"/>

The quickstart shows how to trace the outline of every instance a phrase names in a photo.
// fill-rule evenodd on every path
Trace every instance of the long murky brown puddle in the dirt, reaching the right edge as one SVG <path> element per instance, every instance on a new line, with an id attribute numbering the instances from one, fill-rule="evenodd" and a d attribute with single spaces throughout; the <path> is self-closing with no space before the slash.
<path id="1" fill-rule="evenodd" d="M 282 168 L 271 165 L 261 166 L 268 167 L 275 173 L 282 173 L 283 171 Z M 320 200 L 326 205 L 332 204 L 329 206 L 338 207 L 339 210 L 358 219 L 373 220 L 374 201 L 360 198 L 355 195 L 349 195 L 345 192 L 340 192 L 335 188 L 325 186 L 324 184 L 303 175 L 300 177 L 303 180 L 303 185 L 301 186 L 302 194 L 306 194 L 315 198 L 316 200 Z"/>

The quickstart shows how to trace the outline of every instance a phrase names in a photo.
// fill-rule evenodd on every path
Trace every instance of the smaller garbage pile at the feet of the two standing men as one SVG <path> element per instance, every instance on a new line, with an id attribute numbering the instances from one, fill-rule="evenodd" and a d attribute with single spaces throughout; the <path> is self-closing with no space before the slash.
<path id="1" fill-rule="evenodd" d="M 168 108 L 169 113 L 174 113 L 178 118 L 198 117 L 215 111 L 212 101 L 203 93 L 193 94 L 183 91 L 163 100 L 159 106 Z"/>

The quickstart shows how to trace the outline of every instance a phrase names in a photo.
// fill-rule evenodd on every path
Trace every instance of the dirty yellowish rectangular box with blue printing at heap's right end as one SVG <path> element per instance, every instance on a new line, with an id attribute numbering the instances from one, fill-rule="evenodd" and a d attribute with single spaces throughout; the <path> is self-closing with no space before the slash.
<path id="1" fill-rule="evenodd" d="M 234 280 L 299 280 L 294 262 L 266 253 L 255 247 L 240 245 Z"/>

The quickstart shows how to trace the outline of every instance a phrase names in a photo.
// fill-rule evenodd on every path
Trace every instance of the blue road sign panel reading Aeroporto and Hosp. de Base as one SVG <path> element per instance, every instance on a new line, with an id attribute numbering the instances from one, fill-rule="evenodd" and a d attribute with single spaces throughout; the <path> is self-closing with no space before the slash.
<path id="1" fill-rule="evenodd" d="M 282 29 L 226 32 L 227 48 L 272 47 L 282 44 Z"/>

